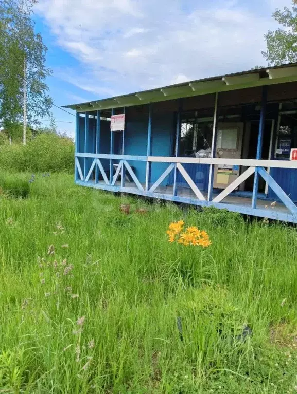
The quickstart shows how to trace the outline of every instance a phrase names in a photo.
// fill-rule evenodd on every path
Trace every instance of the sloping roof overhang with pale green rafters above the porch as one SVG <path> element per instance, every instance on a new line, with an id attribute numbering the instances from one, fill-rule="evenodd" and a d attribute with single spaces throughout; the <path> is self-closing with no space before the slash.
<path id="1" fill-rule="evenodd" d="M 205 95 L 220 91 L 293 81 L 297 81 L 297 63 L 282 64 L 274 67 L 258 68 L 211 78 L 203 78 L 156 89 L 138 91 L 128 95 L 65 105 L 64 108 L 74 109 L 78 112 L 120 108 L 182 97 Z"/>

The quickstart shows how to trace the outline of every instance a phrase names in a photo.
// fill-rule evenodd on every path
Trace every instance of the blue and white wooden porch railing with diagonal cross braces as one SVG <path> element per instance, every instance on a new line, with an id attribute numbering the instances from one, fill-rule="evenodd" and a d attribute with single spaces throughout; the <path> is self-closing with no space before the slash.
<path id="1" fill-rule="evenodd" d="M 290 222 L 297 223 L 297 207 L 291 198 L 284 192 L 281 186 L 276 182 L 275 179 L 270 175 L 270 168 L 293 168 L 297 170 L 297 162 L 296 161 L 287 161 L 287 160 L 250 160 L 250 159 L 219 159 L 219 158 L 187 158 L 187 157 L 163 157 L 163 156 L 129 156 L 129 155 L 110 155 L 110 154 L 92 154 L 92 153 L 76 153 L 75 155 L 75 179 L 78 184 L 97 187 L 102 190 L 110 190 L 110 191 L 122 191 L 132 194 L 138 194 L 148 197 L 161 198 L 165 200 L 185 202 L 195 205 L 202 206 L 215 206 L 217 208 L 226 208 L 230 211 L 240 212 L 243 214 L 249 214 L 260 217 L 268 217 L 271 219 L 285 220 Z M 84 168 L 82 170 L 79 158 L 84 159 Z M 92 163 L 88 168 L 86 168 L 86 160 L 92 160 Z M 115 174 L 113 171 L 110 171 L 109 176 L 104 171 L 101 160 L 117 160 L 117 169 Z M 162 175 L 152 184 L 151 182 L 151 165 L 146 165 L 146 180 L 143 184 L 137 178 L 133 168 L 129 164 L 129 161 L 142 161 L 146 163 L 168 163 L 168 167 L 162 173 Z M 194 180 L 188 175 L 185 170 L 183 164 L 191 163 L 191 164 L 208 164 L 211 167 L 210 175 L 209 175 L 209 184 L 207 197 L 204 196 L 202 191 L 197 187 Z M 213 195 L 213 166 L 214 165 L 236 165 L 236 166 L 244 166 L 246 170 L 236 178 L 231 184 L 226 186 L 224 190 L 222 190 L 216 196 Z M 268 171 L 265 168 L 268 168 Z M 110 167 L 111 168 L 111 167 Z M 95 179 L 90 182 L 90 177 L 95 170 Z M 126 186 L 125 184 L 125 173 L 126 171 L 129 173 L 131 180 L 135 183 L 136 187 Z M 103 182 L 99 182 L 99 172 L 102 175 Z M 174 173 L 174 181 L 172 187 L 172 194 L 168 193 L 158 193 L 156 189 L 162 184 L 162 182 L 166 179 L 166 177 L 171 173 Z M 193 191 L 195 197 L 184 197 L 178 196 L 177 191 L 177 172 L 179 172 L 191 191 Z M 117 179 L 121 174 L 121 184 L 117 185 Z M 229 196 L 233 191 L 235 191 L 238 186 L 247 180 L 252 174 L 254 176 L 254 185 L 253 185 L 253 193 L 251 199 L 251 206 L 246 205 L 238 205 L 232 203 L 222 203 L 221 201 Z M 287 212 L 285 210 L 277 210 L 277 209 L 261 209 L 257 208 L 257 195 L 258 195 L 258 181 L 259 177 L 263 178 L 268 186 L 273 190 L 273 192 L 277 195 L 279 200 L 285 205 L 287 208 Z"/>

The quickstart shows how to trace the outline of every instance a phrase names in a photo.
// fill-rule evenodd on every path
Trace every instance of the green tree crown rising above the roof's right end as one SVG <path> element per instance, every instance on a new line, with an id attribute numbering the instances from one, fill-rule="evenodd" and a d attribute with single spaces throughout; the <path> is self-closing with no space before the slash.
<path id="1" fill-rule="evenodd" d="M 293 2 L 295 4 L 295 2 Z M 279 65 L 297 61 L 297 6 L 287 7 L 283 11 L 277 9 L 274 19 L 285 29 L 269 30 L 265 34 L 267 51 L 262 52 L 269 65 Z"/>

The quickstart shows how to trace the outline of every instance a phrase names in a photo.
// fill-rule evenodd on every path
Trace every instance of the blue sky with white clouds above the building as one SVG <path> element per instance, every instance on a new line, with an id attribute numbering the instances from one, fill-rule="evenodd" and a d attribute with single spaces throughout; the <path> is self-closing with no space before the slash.
<path id="1" fill-rule="evenodd" d="M 34 18 L 53 70 L 50 95 L 62 106 L 265 65 L 263 36 L 277 27 L 271 14 L 290 5 L 39 0 Z M 53 115 L 58 130 L 74 136 L 74 116 L 56 107 Z"/>

